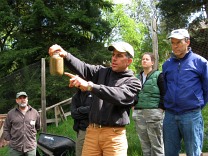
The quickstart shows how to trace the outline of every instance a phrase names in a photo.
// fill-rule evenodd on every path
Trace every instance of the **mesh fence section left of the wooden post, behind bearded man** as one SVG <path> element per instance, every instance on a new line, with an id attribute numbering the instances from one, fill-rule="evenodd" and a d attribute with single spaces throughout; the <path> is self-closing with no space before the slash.
<path id="1" fill-rule="evenodd" d="M 10 74 L 0 80 L 2 82 L 0 85 L 0 113 L 6 114 L 16 105 L 15 96 L 19 91 L 26 91 L 29 96 L 29 103 L 31 102 L 33 103 L 31 104 L 32 106 L 40 108 L 40 98 L 38 102 L 36 100 L 36 98 L 39 96 L 38 90 L 40 90 L 40 62 L 27 66 L 18 72 Z M 33 102 L 33 100 L 36 102 Z"/>

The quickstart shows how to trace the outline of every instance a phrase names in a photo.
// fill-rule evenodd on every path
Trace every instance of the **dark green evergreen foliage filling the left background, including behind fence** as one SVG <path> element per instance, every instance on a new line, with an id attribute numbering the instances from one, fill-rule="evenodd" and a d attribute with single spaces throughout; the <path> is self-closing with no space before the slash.
<path id="1" fill-rule="evenodd" d="M 0 112 L 15 105 L 15 94 L 24 90 L 30 104 L 41 106 L 41 58 L 46 58 L 47 106 L 72 96 L 68 78 L 49 74 L 48 48 L 60 44 L 76 57 L 92 64 L 105 64 L 110 53 L 103 46 L 111 32 L 102 10 L 103 0 L 0 0 Z M 35 64 L 36 67 L 33 65 Z M 38 65 L 39 64 L 39 65 Z M 69 71 L 65 67 L 65 71 Z M 69 71 L 70 72 L 70 71 Z"/>

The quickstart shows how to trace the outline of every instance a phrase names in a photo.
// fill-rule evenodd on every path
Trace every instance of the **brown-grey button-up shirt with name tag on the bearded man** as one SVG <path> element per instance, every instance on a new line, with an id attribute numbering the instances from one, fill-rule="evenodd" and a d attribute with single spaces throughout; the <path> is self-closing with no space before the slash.
<path id="1" fill-rule="evenodd" d="M 9 146 L 21 152 L 28 152 L 36 148 L 36 134 L 40 129 L 40 116 L 37 110 L 28 105 L 25 115 L 14 108 L 7 114 L 4 123 L 4 139 Z"/>

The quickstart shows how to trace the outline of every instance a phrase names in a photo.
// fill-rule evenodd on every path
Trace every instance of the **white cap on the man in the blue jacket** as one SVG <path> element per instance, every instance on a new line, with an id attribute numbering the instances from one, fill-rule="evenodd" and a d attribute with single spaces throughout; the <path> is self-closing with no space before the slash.
<path id="1" fill-rule="evenodd" d="M 184 38 L 190 38 L 190 35 L 186 29 L 176 29 L 171 32 L 168 39 L 170 39 L 170 38 L 176 38 L 176 39 L 181 40 Z"/>

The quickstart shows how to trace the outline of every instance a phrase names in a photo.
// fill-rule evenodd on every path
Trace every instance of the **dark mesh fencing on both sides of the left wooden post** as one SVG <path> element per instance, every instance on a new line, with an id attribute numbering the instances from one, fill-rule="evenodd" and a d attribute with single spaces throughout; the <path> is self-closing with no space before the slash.
<path id="1" fill-rule="evenodd" d="M 46 106 L 51 106 L 68 99 L 76 91 L 69 88 L 66 76 L 51 76 L 46 60 Z M 15 105 L 15 96 L 19 91 L 26 91 L 29 104 L 36 109 L 41 108 L 41 62 L 38 61 L 21 70 L 0 79 L 0 113 L 6 114 Z"/>

